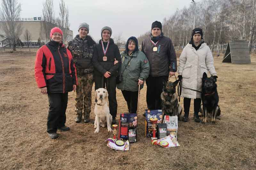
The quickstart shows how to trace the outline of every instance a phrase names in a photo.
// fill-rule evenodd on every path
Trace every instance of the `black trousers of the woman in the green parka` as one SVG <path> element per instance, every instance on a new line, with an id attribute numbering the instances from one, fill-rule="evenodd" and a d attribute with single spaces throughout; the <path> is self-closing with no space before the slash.
<path id="1" fill-rule="evenodd" d="M 137 113 L 139 91 L 122 90 L 122 93 L 127 103 L 129 113 Z"/>

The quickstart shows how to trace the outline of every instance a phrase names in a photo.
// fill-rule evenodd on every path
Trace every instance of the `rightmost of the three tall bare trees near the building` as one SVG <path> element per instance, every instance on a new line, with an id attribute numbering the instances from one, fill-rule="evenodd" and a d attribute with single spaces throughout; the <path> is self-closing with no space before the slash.
<path id="1" fill-rule="evenodd" d="M 69 13 L 68 13 L 68 6 L 65 4 L 64 0 L 60 0 L 59 2 L 60 5 L 60 12 L 59 15 L 60 17 L 57 18 L 57 24 L 60 26 L 60 28 L 62 29 L 63 32 L 63 41 L 65 41 L 67 39 L 67 35 L 68 35 L 68 30 L 69 29 Z"/>

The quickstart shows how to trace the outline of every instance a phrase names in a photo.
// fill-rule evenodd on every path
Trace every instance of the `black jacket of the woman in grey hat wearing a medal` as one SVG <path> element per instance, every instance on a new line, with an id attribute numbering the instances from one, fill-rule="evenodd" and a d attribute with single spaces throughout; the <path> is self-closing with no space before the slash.
<path id="1" fill-rule="evenodd" d="M 118 46 L 114 43 L 113 39 L 109 40 L 109 46 L 106 53 L 107 61 L 103 61 L 104 53 L 102 50 L 101 40 L 99 44 L 95 46 L 95 50 L 92 57 L 92 62 L 94 65 L 94 75 L 103 76 L 107 71 L 111 73 L 111 76 L 116 76 L 118 68 L 121 63 L 121 56 Z M 114 65 L 114 61 L 119 62 Z"/>

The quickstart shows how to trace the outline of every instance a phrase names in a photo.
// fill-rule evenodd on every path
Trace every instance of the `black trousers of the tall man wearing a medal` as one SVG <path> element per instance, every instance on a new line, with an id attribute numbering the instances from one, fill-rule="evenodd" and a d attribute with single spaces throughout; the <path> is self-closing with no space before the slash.
<path id="1" fill-rule="evenodd" d="M 163 92 L 163 82 L 168 80 L 168 76 L 152 77 L 148 76 L 147 84 L 147 105 L 150 110 L 161 110 L 161 93 Z"/>

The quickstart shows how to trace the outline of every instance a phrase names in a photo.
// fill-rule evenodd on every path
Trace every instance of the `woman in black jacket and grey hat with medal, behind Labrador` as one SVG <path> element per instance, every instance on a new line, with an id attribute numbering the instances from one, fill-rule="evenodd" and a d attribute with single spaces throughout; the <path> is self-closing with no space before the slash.
<path id="1" fill-rule="evenodd" d="M 107 88 L 109 111 L 113 117 L 112 123 L 116 123 L 116 75 L 120 66 L 121 56 L 118 46 L 111 39 L 112 30 L 105 26 L 101 29 L 101 39 L 95 47 L 92 61 L 94 65 L 95 90 Z M 114 63 L 115 62 L 115 63 Z"/>

